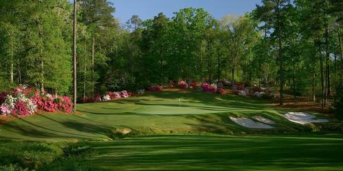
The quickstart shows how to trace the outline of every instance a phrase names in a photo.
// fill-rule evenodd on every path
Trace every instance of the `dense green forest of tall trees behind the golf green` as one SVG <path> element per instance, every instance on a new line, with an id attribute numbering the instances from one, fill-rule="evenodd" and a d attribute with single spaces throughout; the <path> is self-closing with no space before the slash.
<path id="1" fill-rule="evenodd" d="M 343 1 L 262 0 L 250 13 L 219 20 L 185 8 L 171 18 L 134 15 L 124 27 L 106 0 L 77 7 L 80 99 L 193 79 L 274 87 L 281 104 L 284 92 L 323 107 L 335 94 L 342 101 Z M 27 83 L 72 94 L 72 47 L 70 1 L 0 1 L 0 90 Z"/>

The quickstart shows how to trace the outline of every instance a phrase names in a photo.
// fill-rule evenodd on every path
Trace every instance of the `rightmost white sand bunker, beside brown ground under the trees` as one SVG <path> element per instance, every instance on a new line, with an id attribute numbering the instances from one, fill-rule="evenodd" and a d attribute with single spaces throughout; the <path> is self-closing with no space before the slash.
<path id="1" fill-rule="evenodd" d="M 326 119 L 315 119 L 316 116 L 312 114 L 308 114 L 305 112 L 288 112 L 285 115 L 282 115 L 287 120 L 296 122 L 298 124 L 309 124 L 309 123 L 323 123 L 323 122 L 329 122 L 329 120 Z"/>

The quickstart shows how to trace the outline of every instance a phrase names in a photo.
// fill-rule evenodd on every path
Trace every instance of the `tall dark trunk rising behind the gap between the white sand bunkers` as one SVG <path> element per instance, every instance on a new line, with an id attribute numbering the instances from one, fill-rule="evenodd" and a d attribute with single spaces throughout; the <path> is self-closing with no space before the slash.
<path id="1" fill-rule="evenodd" d="M 279 60 L 280 60 L 280 105 L 283 105 L 283 86 L 284 86 L 284 73 L 283 73 L 283 54 L 282 54 L 282 34 L 281 34 L 281 16 L 280 16 L 280 1 L 278 0 L 276 8 L 277 22 L 278 22 L 278 37 L 279 37 Z"/>

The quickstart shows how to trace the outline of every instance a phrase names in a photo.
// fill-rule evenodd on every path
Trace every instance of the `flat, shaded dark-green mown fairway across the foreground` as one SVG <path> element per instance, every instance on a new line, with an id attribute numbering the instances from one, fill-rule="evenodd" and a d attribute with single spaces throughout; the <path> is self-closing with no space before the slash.
<path id="1" fill-rule="evenodd" d="M 95 170 L 343 170 L 342 135 L 162 136 L 96 142 Z"/>

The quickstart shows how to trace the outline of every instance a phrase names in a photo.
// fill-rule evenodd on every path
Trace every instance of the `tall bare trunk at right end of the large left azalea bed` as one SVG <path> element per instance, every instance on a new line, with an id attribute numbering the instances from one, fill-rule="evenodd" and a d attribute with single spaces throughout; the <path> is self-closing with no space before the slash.
<path id="1" fill-rule="evenodd" d="M 74 0 L 74 6 L 73 6 L 73 103 L 74 103 L 74 112 L 76 113 L 76 99 L 77 99 L 77 82 L 76 82 L 76 79 L 77 79 L 77 70 L 76 70 L 76 62 L 77 62 L 77 53 L 76 53 L 76 38 L 77 38 L 77 6 L 76 6 L 76 3 L 77 3 L 77 0 Z"/>

